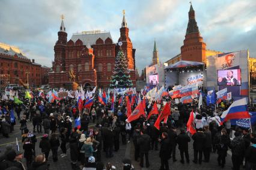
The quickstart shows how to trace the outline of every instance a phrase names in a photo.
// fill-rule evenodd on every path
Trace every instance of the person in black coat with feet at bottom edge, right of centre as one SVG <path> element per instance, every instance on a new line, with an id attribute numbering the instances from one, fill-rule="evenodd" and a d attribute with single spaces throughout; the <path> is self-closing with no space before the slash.
<path id="1" fill-rule="evenodd" d="M 162 133 L 162 140 L 161 140 L 161 147 L 159 151 L 159 157 L 161 159 L 161 166 L 160 170 L 169 170 L 169 156 L 170 156 L 170 145 L 169 145 L 169 139 L 168 134 L 166 132 Z"/>

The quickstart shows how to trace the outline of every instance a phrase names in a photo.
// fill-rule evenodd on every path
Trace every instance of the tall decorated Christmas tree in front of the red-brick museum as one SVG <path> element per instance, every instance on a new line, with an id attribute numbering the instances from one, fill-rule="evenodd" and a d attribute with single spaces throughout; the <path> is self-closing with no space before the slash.
<path id="1" fill-rule="evenodd" d="M 133 86 L 132 80 L 130 80 L 127 58 L 121 47 L 115 58 L 115 70 L 113 73 L 110 88 L 129 88 Z"/>

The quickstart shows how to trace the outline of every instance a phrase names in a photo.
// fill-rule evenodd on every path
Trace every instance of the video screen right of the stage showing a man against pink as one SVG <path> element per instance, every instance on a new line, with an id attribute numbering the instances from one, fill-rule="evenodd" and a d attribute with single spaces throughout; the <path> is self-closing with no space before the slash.
<path id="1" fill-rule="evenodd" d="M 218 70 L 219 86 L 239 86 L 241 85 L 241 70 Z"/>

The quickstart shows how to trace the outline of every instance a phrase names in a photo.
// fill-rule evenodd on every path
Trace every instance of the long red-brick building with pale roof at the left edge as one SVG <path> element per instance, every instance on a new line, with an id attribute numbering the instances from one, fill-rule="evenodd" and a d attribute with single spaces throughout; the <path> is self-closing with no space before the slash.
<path id="1" fill-rule="evenodd" d="M 49 67 L 48 67 L 49 68 Z M 28 59 L 18 47 L 0 43 L 0 87 L 17 83 L 41 85 L 41 65 Z"/>

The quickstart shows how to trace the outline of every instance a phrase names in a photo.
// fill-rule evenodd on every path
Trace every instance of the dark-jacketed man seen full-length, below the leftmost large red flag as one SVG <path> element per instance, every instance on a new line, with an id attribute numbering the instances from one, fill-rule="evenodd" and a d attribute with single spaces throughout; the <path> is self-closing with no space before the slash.
<path id="1" fill-rule="evenodd" d="M 144 154 L 146 160 L 146 167 L 148 168 L 148 151 L 150 150 L 150 136 L 145 133 L 145 130 L 141 130 L 141 136 L 137 139 L 137 144 L 139 145 L 139 156 L 141 157 L 141 162 L 139 165 L 144 166 Z"/>

